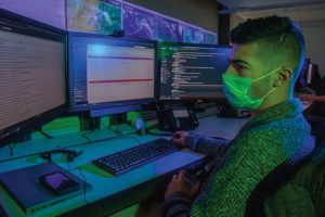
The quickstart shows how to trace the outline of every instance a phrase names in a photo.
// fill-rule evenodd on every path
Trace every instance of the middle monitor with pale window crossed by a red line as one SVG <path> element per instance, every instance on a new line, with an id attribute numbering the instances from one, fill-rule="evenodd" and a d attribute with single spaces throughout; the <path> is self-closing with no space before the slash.
<path id="1" fill-rule="evenodd" d="M 99 117 L 155 99 L 156 42 L 69 33 L 69 106 Z"/>

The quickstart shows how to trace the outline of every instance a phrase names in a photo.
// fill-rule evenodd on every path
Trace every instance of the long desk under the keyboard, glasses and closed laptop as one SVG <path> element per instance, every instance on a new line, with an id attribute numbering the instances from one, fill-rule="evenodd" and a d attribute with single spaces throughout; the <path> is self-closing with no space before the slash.
<path id="1" fill-rule="evenodd" d="M 247 119 L 229 119 L 209 116 L 202 118 L 199 122 L 200 125 L 195 130 L 196 132 L 232 139 Z M 115 139 L 103 140 L 114 136 Z M 53 162 L 80 178 L 83 176 L 86 180 L 92 184 L 92 190 L 84 196 L 78 196 L 58 203 L 52 207 L 30 214 L 29 216 L 107 216 L 107 214 L 135 204 L 151 195 L 156 188 L 156 181 L 159 177 L 174 173 L 182 167 L 199 163 L 204 158 L 204 155 L 184 149 L 130 173 L 114 177 L 92 165 L 91 161 L 109 153 L 138 145 L 136 139 L 140 142 L 147 142 L 157 139 L 157 136 L 130 135 L 116 137 L 113 131 L 103 129 L 88 133 L 87 138 L 82 137 L 81 132 L 76 132 L 60 136 L 54 139 L 39 139 L 20 143 L 14 148 L 14 156 L 9 156 L 10 152 L 8 148 L 0 149 L 0 173 L 43 163 L 44 159 L 40 158 L 37 154 L 43 151 L 53 149 L 83 151 L 83 153 L 72 163 L 67 163 L 63 155 L 58 155 L 57 158 L 53 157 Z M 102 141 L 89 143 L 89 140 Z M 10 216 L 25 216 L 24 212 L 2 187 L 0 187 L 0 203 Z"/>

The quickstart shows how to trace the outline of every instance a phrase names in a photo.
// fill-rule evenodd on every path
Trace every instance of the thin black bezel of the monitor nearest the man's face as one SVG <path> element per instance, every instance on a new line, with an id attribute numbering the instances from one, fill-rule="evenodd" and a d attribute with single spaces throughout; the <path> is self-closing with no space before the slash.
<path id="1" fill-rule="evenodd" d="M 182 46 L 182 47 L 205 47 L 205 48 L 225 48 L 225 49 L 233 49 L 232 46 L 221 46 L 221 44 L 211 44 L 211 43 L 186 43 L 186 42 L 166 42 L 166 41 L 160 41 L 158 42 L 158 78 L 159 78 L 159 84 L 157 87 L 157 101 L 158 102 L 165 102 L 165 103 L 177 103 L 177 102 L 185 102 L 185 103 L 191 103 L 191 102 L 211 102 L 211 101 L 224 101 L 225 95 L 216 95 L 216 97 L 207 97 L 207 98 L 180 98 L 180 99 L 161 99 L 160 98 L 160 76 L 161 76 L 161 56 L 160 56 L 160 50 L 162 46 Z"/>

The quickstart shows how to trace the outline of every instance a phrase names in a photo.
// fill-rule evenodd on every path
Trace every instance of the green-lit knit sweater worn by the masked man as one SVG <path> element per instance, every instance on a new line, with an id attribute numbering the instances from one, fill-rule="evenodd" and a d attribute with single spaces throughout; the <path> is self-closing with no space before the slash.
<path id="1" fill-rule="evenodd" d="M 194 202 L 174 192 L 162 205 L 162 216 L 244 216 L 257 184 L 284 162 L 296 164 L 313 149 L 310 126 L 299 100 L 274 105 L 250 119 L 231 142 L 222 167 L 212 173 Z M 190 135 L 187 145 L 211 156 L 227 142 Z"/>

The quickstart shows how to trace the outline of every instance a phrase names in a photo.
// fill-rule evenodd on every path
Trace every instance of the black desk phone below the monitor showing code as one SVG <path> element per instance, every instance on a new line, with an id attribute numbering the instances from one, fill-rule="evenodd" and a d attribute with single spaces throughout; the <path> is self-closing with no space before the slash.
<path id="1" fill-rule="evenodd" d="M 198 126 L 198 119 L 193 108 L 157 104 L 157 115 L 162 130 L 188 130 Z"/>

